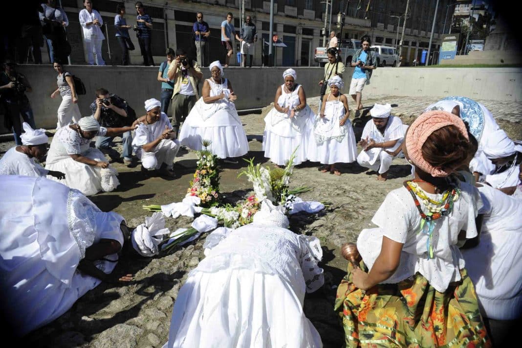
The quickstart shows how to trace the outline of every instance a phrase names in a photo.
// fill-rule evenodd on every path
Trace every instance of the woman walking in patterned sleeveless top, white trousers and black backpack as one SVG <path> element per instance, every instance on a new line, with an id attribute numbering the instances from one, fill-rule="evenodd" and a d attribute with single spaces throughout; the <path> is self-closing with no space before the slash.
<path id="1" fill-rule="evenodd" d="M 58 122 L 56 129 L 60 129 L 73 121 L 77 123 L 81 119 L 80 109 L 78 108 L 78 95 L 74 85 L 73 75 L 63 71 L 62 62 L 55 59 L 54 69 L 58 73 L 56 84 L 58 88 L 52 92 L 51 98 L 55 98 L 58 93 L 62 96 L 62 102 L 58 108 Z"/>

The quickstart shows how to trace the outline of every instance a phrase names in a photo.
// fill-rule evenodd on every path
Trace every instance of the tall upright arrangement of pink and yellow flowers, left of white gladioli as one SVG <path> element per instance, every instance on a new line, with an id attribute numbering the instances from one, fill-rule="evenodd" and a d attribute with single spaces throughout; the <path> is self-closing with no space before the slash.
<path id="1" fill-rule="evenodd" d="M 205 149 L 197 152 L 196 172 L 187 189 L 187 195 L 198 196 L 204 207 L 217 204 L 219 198 L 218 157 L 207 150 L 209 145 L 210 141 L 204 140 Z"/>

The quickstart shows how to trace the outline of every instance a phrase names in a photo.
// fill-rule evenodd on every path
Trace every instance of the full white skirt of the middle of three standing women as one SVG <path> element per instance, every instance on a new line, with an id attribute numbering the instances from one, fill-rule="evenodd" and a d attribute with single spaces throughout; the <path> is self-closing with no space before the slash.
<path id="1" fill-rule="evenodd" d="M 308 159 L 307 150 L 312 136 L 314 114 L 306 106 L 300 112 L 301 115 L 296 116 L 304 119 L 300 122 L 301 126 L 299 129 L 295 129 L 295 125 L 292 125 L 292 121 L 289 119 L 272 124 L 272 117 L 276 117 L 278 113 L 276 108 L 274 108 L 265 117 L 266 125 L 263 133 L 264 156 L 269 158 L 272 163 L 284 166 L 294 150 L 297 149 L 293 164 L 299 165 Z"/>

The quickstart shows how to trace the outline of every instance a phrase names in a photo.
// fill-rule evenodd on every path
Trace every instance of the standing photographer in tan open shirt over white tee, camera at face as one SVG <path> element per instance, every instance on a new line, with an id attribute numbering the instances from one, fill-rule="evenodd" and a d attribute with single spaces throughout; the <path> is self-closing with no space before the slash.
<path id="1" fill-rule="evenodd" d="M 172 122 L 177 138 L 180 126 L 199 99 L 198 83 L 203 73 L 196 61 L 188 59 L 184 49 L 176 50 L 176 58 L 169 66 L 169 80 L 174 81 L 172 93 Z"/>

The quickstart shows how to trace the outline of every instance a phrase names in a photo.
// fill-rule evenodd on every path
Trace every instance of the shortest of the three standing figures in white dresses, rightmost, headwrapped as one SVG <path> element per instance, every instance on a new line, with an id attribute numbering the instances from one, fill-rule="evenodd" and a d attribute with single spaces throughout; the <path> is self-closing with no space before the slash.
<path id="1" fill-rule="evenodd" d="M 315 117 L 308 159 L 321 162 L 321 172 L 341 175 L 336 163 L 352 163 L 357 159 L 357 144 L 350 120 L 348 99 L 340 90 L 345 84 L 339 76 L 328 80 L 330 92 L 324 96 L 321 113 Z"/>

